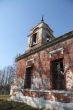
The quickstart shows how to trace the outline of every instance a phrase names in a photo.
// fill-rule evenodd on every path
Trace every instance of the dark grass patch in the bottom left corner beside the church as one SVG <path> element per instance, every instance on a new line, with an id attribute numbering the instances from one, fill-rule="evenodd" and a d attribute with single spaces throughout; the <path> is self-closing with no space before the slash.
<path id="1" fill-rule="evenodd" d="M 21 102 L 7 101 L 9 96 L 0 96 L 0 110 L 38 110 Z"/>

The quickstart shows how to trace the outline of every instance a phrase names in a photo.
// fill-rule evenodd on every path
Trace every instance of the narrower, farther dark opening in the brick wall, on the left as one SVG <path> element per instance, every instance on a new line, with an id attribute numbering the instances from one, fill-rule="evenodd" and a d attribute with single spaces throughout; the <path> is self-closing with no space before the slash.
<path id="1" fill-rule="evenodd" d="M 32 67 L 26 68 L 26 75 L 24 81 L 24 88 L 31 88 L 31 75 L 32 75 Z"/>

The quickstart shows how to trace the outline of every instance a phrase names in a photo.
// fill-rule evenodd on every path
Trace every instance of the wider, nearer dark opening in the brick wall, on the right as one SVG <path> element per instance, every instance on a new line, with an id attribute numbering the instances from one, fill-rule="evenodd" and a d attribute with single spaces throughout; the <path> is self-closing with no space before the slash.
<path id="1" fill-rule="evenodd" d="M 52 61 L 52 89 L 64 89 L 63 59 Z"/>

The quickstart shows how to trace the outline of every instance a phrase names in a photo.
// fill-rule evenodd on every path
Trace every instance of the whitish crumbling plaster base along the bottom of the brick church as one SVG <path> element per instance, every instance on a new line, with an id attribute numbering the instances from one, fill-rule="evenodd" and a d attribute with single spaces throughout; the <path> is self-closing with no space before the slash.
<path id="1" fill-rule="evenodd" d="M 24 96 L 21 92 L 18 92 L 16 97 L 14 97 L 14 99 L 11 100 L 24 102 L 35 108 L 45 108 L 45 110 L 73 110 L 73 103 L 61 103 L 56 101 L 44 100 L 43 98 Z"/>

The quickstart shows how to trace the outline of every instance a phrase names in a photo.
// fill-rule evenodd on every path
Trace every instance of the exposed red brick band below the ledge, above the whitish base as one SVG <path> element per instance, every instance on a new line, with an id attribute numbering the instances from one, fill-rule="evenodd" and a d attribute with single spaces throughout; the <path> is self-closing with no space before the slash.
<path id="1" fill-rule="evenodd" d="M 72 91 L 47 91 L 47 90 L 25 90 L 24 96 L 43 98 L 44 100 L 58 101 L 63 103 L 73 103 Z"/>

